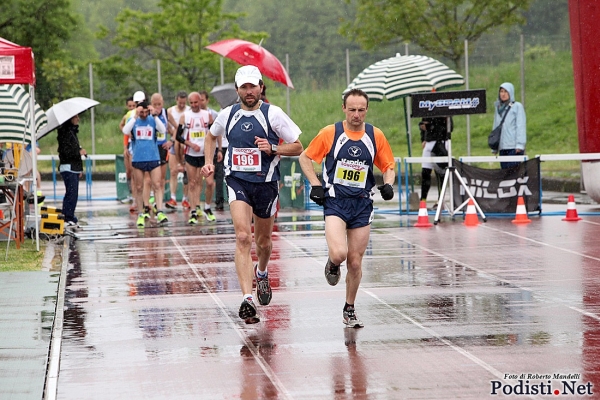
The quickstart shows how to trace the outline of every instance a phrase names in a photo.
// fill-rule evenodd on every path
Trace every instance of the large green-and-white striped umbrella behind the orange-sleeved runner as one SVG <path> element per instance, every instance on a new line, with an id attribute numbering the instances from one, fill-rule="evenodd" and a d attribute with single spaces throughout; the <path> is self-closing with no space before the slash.
<path id="1" fill-rule="evenodd" d="M 427 92 L 460 86 L 464 78 L 445 64 L 426 56 L 401 56 L 387 58 L 364 69 L 348 85 L 344 93 L 351 89 L 361 89 L 369 100 L 395 100 L 411 93 Z"/>

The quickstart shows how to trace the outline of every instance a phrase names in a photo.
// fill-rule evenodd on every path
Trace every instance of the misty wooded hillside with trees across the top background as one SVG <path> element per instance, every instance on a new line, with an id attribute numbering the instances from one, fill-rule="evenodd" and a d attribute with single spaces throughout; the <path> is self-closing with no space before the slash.
<path id="1" fill-rule="evenodd" d="M 395 2 L 383 1 L 378 4 L 391 19 L 380 20 L 377 14 L 373 19 L 365 12 L 373 1 L 355 0 L 6 1 L 9 4 L 0 16 L 0 36 L 33 47 L 42 105 L 89 95 L 88 65 L 92 63 L 95 98 L 102 102 L 99 110 L 105 112 L 120 112 L 124 98 L 134 90 L 158 89 L 156 60 L 160 60 L 163 93 L 182 88 L 210 90 L 219 83 L 219 56 L 204 46 L 227 37 L 255 43 L 263 39 L 263 46 L 280 60 L 288 55 L 296 90 L 345 84 L 346 52 L 351 78 L 371 63 L 396 53 L 424 54 L 452 64 L 459 59 L 462 43 L 445 54 L 449 45 L 429 48 L 402 30 L 383 36 L 376 28 L 389 28 L 395 21 L 404 26 L 401 18 L 412 20 L 419 15 L 455 15 L 456 19 L 471 4 L 464 0 L 430 1 L 433 6 L 428 9 L 421 1 L 411 2 L 423 9 L 403 17 L 392 7 Z M 504 3 L 486 2 L 486 9 L 497 7 L 496 12 L 502 12 L 506 10 Z M 497 65 L 513 61 L 520 34 L 534 51 L 540 47 L 553 50 L 559 42 L 561 50 L 568 48 L 567 0 L 511 4 L 516 8 L 510 18 L 497 21 L 470 42 L 475 62 Z M 387 9 L 388 5 L 392 8 Z M 524 25 L 514 25 L 518 22 Z M 359 32 L 360 26 L 365 29 Z M 454 37 L 454 42 L 466 35 L 464 27 L 448 23 L 446 29 L 461 32 L 452 36 L 441 30 L 436 35 Z M 232 76 L 236 67 L 225 60 L 225 76 Z"/>

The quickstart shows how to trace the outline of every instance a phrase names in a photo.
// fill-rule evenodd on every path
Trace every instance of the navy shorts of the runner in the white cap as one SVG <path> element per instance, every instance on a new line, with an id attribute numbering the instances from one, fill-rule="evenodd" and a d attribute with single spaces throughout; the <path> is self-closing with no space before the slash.
<path id="1" fill-rule="evenodd" d="M 229 203 L 243 201 L 259 218 L 271 218 L 277 212 L 279 182 L 248 182 L 233 176 L 226 177 L 225 181 Z"/>

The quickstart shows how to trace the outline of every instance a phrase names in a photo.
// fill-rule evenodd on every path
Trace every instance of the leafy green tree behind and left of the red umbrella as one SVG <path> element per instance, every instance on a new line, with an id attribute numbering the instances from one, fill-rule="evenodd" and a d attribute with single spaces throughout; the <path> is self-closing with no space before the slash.
<path id="1" fill-rule="evenodd" d="M 219 55 L 206 50 L 210 43 L 237 37 L 258 42 L 265 33 L 247 33 L 235 23 L 239 14 L 222 12 L 221 0 L 161 0 L 160 11 L 125 9 L 117 16 L 113 44 L 119 53 L 104 60 L 125 65 L 136 84 L 152 92 L 156 86 L 156 60 L 167 92 L 200 90 L 214 86 L 220 77 Z M 103 35 L 110 35 L 104 30 Z M 103 66 L 105 71 L 117 69 Z M 233 72 L 231 73 L 233 76 Z M 139 89 L 139 87 L 138 87 Z M 136 89 L 136 90 L 138 90 Z"/>

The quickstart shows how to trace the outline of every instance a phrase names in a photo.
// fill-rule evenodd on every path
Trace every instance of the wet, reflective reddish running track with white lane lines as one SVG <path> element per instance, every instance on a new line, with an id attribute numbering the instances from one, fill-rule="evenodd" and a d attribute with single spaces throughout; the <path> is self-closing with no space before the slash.
<path id="1" fill-rule="evenodd" d="M 414 228 L 416 215 L 378 214 L 363 329 L 342 323 L 344 280 L 325 282 L 318 212 L 280 214 L 273 300 L 256 325 L 237 316 L 228 214 L 197 227 L 169 217 L 138 230 L 111 203 L 82 218 L 56 398 L 600 398 L 598 216 Z"/>

